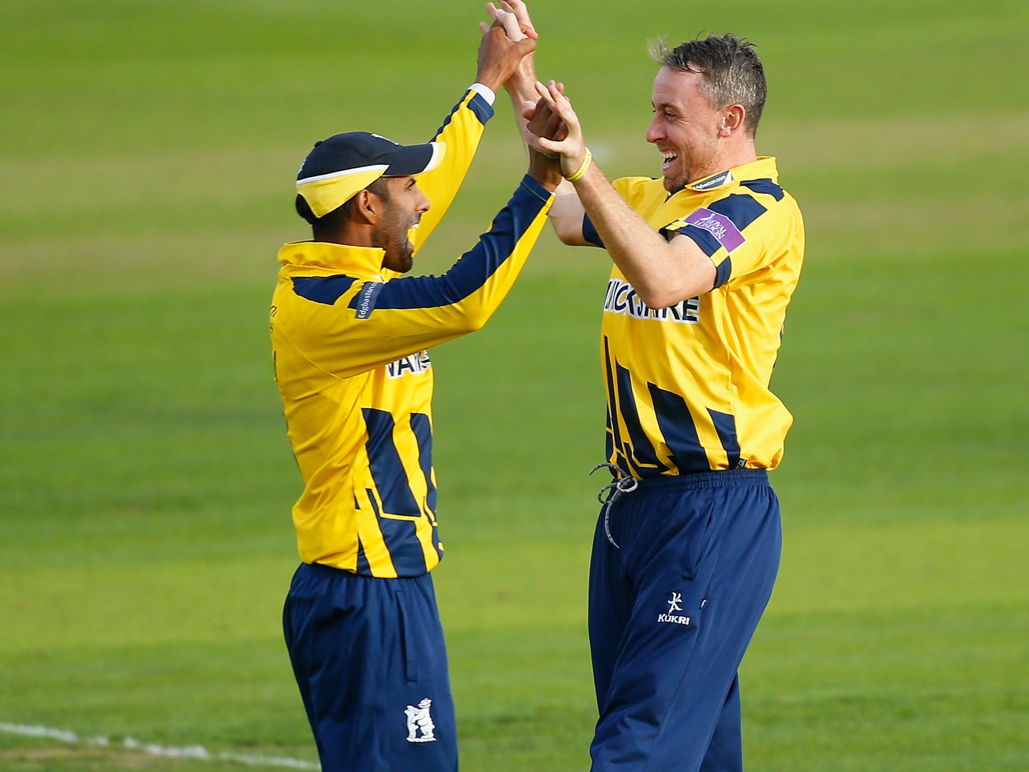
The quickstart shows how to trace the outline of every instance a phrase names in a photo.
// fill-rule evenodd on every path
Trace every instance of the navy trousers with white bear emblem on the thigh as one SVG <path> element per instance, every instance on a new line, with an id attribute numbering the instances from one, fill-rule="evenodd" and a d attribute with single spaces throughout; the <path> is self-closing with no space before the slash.
<path id="1" fill-rule="evenodd" d="M 447 648 L 429 574 L 300 564 L 286 646 L 322 772 L 456 772 Z"/>

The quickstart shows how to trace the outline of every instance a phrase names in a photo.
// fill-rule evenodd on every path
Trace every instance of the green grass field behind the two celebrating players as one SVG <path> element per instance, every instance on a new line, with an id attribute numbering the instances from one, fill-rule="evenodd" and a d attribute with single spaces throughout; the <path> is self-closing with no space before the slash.
<path id="1" fill-rule="evenodd" d="M 313 140 L 424 141 L 478 2 L 4 0 L 0 770 L 314 761 L 279 615 L 300 489 L 267 309 Z M 785 549 L 743 666 L 754 772 L 1029 769 L 1029 4 L 536 0 L 612 175 L 657 173 L 644 42 L 760 45 L 758 150 L 808 257 L 774 388 Z M 491 122 L 437 272 L 523 173 Z M 586 637 L 608 258 L 546 234 L 433 353 L 434 572 L 467 772 L 589 766 Z"/>

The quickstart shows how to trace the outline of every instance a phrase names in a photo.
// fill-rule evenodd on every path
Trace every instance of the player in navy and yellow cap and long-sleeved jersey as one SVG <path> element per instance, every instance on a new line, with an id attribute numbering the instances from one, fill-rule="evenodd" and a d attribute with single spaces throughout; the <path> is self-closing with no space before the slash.
<path id="1" fill-rule="evenodd" d="M 293 507 L 304 562 L 283 621 L 324 772 L 457 770 L 428 573 L 443 545 L 427 349 L 478 329 L 503 300 L 545 221 L 558 162 L 533 152 L 489 233 L 446 274 L 402 275 L 454 199 L 494 92 L 534 46 L 489 30 L 475 84 L 430 143 L 339 134 L 297 175 L 313 240 L 280 250 L 271 311 L 305 483 Z"/>

